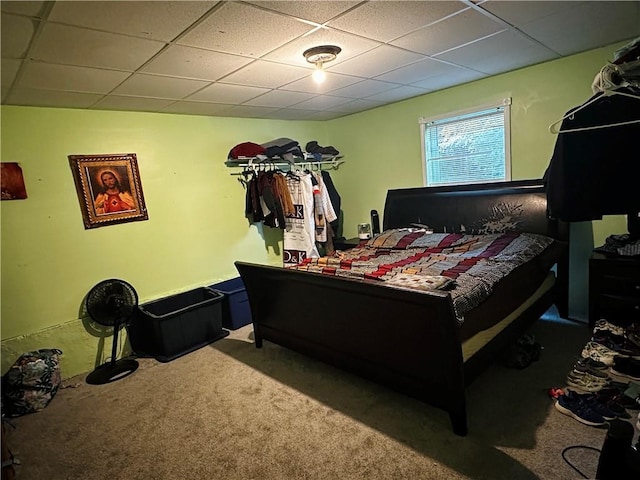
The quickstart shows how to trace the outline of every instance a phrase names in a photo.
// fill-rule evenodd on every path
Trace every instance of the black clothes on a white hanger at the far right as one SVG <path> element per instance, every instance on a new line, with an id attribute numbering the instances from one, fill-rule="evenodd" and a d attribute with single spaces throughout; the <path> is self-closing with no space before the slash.
<path id="1" fill-rule="evenodd" d="M 552 218 L 579 222 L 640 211 L 640 89 L 617 92 L 596 93 L 562 120 L 544 175 Z"/>

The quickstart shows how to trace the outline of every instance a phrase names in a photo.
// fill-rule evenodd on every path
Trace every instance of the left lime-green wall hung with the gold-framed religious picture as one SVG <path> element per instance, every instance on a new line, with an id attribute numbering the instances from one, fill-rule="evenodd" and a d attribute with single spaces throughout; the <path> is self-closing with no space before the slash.
<path id="1" fill-rule="evenodd" d="M 122 278 L 140 302 L 237 276 L 233 261 L 281 264 L 281 234 L 250 226 L 238 171 L 244 141 L 326 141 L 324 122 L 2 107 L 2 161 L 19 162 L 28 199 L 3 201 L 2 370 L 22 352 L 60 348 L 63 375 L 110 355 L 80 318 L 83 298 Z M 136 153 L 149 220 L 85 230 L 70 154 Z M 264 236 L 264 239 L 263 239 Z M 125 348 L 123 342 L 123 348 Z M 104 350 L 104 351 L 103 351 Z"/>

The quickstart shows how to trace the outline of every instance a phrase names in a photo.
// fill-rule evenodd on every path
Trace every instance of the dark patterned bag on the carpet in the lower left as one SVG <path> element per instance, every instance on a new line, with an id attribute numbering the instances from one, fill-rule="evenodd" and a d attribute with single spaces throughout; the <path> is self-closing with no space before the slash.
<path id="1" fill-rule="evenodd" d="M 60 376 L 58 349 L 41 349 L 20 355 L 2 376 L 2 414 L 18 417 L 43 410 L 58 392 Z"/>

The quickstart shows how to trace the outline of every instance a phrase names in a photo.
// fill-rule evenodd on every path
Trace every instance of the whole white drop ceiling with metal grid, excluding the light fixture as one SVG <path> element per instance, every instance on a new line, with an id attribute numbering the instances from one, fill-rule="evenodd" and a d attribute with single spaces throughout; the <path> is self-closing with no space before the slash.
<path id="1" fill-rule="evenodd" d="M 329 120 L 640 36 L 638 1 L 2 1 L 3 105 Z M 337 45 L 327 80 L 302 53 Z"/>

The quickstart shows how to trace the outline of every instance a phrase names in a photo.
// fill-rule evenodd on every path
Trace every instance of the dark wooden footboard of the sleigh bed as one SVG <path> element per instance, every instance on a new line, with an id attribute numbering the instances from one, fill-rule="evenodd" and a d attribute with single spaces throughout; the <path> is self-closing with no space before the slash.
<path id="1" fill-rule="evenodd" d="M 447 411 L 467 433 L 465 380 L 450 297 L 235 263 L 256 347 L 264 340 L 356 373 Z"/>

